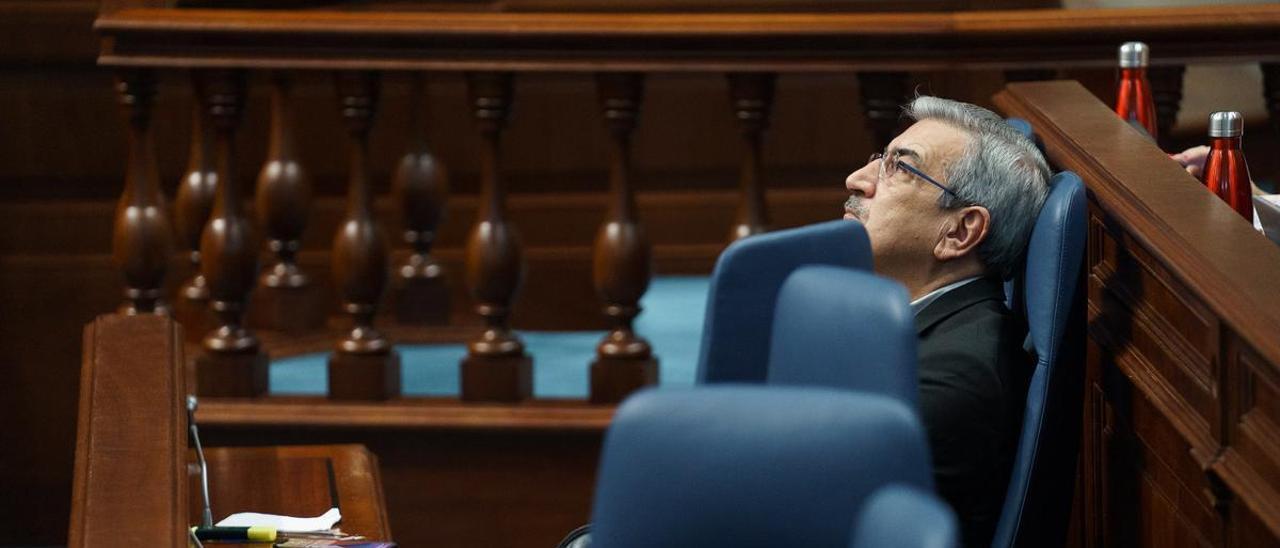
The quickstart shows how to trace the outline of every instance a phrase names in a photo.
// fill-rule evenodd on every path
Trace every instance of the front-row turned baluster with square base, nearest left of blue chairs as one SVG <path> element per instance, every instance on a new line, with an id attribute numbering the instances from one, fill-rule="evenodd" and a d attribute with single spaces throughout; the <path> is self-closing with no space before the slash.
<path id="1" fill-rule="evenodd" d="M 636 215 L 631 191 L 631 132 L 640 115 L 644 77 L 605 73 L 596 77 L 600 110 L 609 129 L 609 211 L 595 234 L 593 274 L 613 324 L 595 347 L 591 362 L 591 402 L 620 402 L 631 392 L 658 382 L 658 361 L 649 342 L 635 334 L 640 297 L 649 287 L 649 241 Z"/>

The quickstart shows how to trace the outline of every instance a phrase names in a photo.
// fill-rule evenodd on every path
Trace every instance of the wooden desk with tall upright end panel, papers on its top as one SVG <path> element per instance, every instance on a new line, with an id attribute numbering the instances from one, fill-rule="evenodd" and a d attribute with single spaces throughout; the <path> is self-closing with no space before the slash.
<path id="1" fill-rule="evenodd" d="M 172 319 L 154 315 L 105 315 L 84 329 L 69 547 L 186 547 L 187 529 L 200 522 L 182 341 Z M 344 531 L 390 538 L 378 458 L 364 446 L 221 447 L 205 456 L 215 519 L 317 516 L 337 498 Z"/>

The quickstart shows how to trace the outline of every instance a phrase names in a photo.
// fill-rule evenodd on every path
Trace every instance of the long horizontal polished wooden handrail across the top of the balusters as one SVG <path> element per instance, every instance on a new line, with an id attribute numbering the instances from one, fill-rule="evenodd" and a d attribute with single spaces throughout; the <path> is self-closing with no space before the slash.
<path id="1" fill-rule="evenodd" d="M 125 8 L 100 63 L 433 70 L 772 70 L 1280 59 L 1280 5 L 946 13 L 433 13 Z"/>

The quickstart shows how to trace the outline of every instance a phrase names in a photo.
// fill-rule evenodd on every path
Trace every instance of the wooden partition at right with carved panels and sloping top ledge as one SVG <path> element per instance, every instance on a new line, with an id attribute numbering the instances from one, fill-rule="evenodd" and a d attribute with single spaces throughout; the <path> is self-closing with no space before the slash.
<path id="1" fill-rule="evenodd" d="M 1280 544 L 1280 250 L 1079 86 L 997 102 L 1089 188 L 1084 544 Z"/>

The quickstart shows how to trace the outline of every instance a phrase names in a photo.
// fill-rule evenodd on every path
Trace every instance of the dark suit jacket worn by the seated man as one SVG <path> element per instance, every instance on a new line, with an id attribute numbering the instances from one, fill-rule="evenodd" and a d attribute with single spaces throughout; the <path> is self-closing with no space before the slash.
<path id="1" fill-rule="evenodd" d="M 920 415 L 938 493 L 955 508 L 964 544 L 986 548 L 1021 429 L 1032 371 L 1027 329 L 993 278 L 943 293 L 919 311 L 915 328 Z"/>

